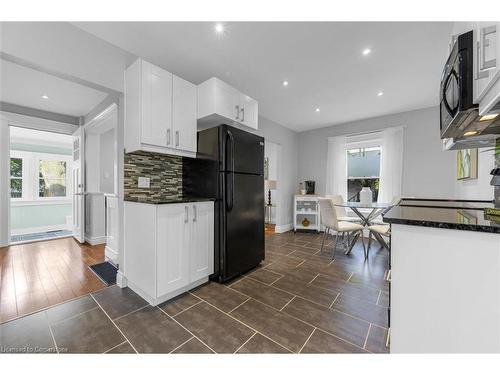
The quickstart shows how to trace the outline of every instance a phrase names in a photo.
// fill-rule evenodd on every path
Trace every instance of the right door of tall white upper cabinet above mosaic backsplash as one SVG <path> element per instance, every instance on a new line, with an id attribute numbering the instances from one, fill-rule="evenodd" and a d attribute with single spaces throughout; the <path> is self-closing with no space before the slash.
<path id="1" fill-rule="evenodd" d="M 173 76 L 173 142 L 183 151 L 196 152 L 196 86 Z"/>

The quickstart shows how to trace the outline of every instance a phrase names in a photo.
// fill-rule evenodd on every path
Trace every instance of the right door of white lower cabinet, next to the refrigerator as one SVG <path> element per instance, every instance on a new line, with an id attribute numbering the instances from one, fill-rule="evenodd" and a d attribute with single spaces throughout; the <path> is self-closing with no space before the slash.
<path id="1" fill-rule="evenodd" d="M 191 236 L 191 282 L 214 272 L 214 205 L 193 204 Z"/>

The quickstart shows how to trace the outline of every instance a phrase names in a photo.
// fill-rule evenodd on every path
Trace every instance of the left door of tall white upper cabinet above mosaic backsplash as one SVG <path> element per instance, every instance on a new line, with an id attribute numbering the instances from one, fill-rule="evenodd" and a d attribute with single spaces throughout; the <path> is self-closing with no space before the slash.
<path id="1" fill-rule="evenodd" d="M 142 143 L 172 144 L 172 73 L 142 62 Z"/>

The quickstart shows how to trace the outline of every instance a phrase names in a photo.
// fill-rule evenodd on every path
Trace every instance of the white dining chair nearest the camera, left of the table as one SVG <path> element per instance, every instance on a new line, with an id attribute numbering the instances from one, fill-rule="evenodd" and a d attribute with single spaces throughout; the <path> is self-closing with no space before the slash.
<path id="1" fill-rule="evenodd" d="M 361 236 L 361 242 L 363 243 L 363 251 L 366 257 L 366 247 L 363 236 L 364 226 L 358 223 L 348 222 L 348 221 L 339 221 L 337 219 L 337 211 L 335 206 L 333 205 L 333 201 L 329 198 L 320 198 L 319 199 L 319 207 L 321 212 L 321 223 L 325 226 L 325 233 L 323 235 L 323 240 L 321 241 L 321 250 L 323 253 L 323 247 L 325 244 L 325 239 L 328 236 L 330 230 L 336 232 L 335 241 L 333 243 L 333 256 L 335 259 L 335 252 L 337 250 L 337 243 L 339 234 L 342 234 L 342 237 L 347 234 L 347 244 L 344 243 L 344 246 L 347 248 L 350 243 L 350 234 L 359 234 Z"/>

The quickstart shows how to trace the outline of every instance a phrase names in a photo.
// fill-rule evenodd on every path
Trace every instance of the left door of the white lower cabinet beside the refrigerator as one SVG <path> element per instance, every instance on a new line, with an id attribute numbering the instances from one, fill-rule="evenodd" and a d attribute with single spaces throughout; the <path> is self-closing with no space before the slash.
<path id="1" fill-rule="evenodd" d="M 156 297 L 189 284 L 189 218 L 188 205 L 158 209 Z"/>

